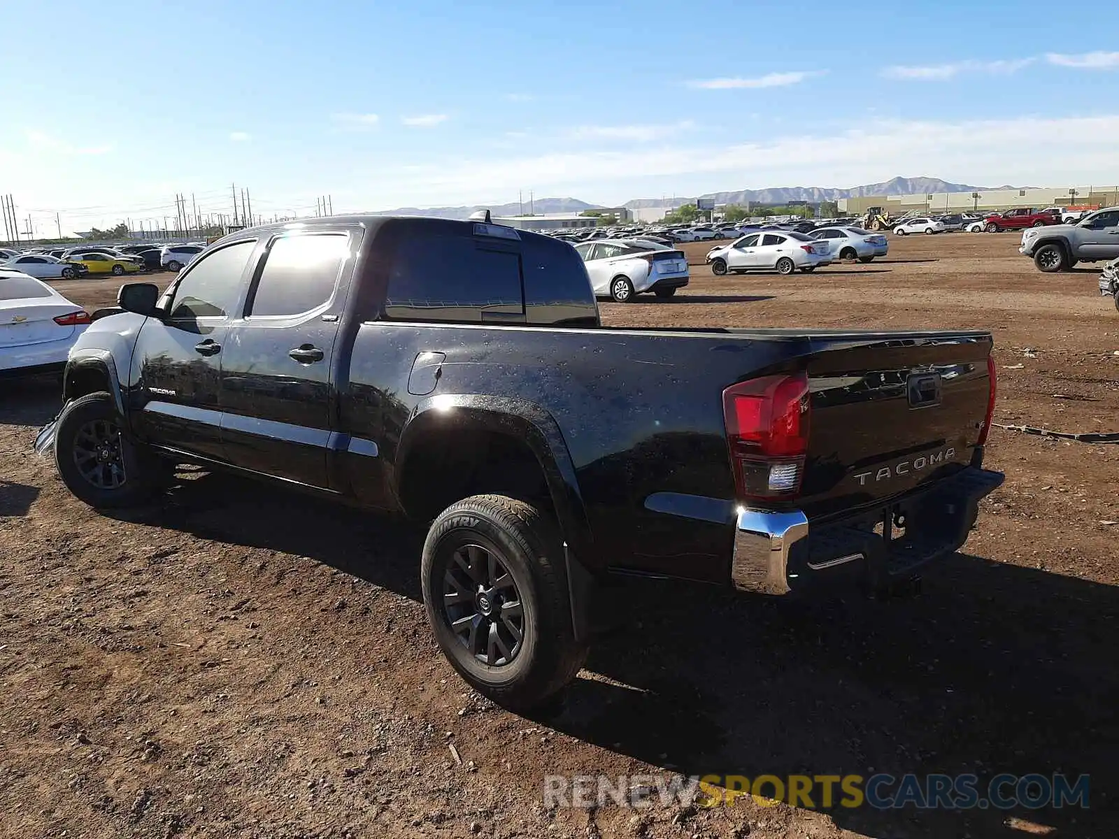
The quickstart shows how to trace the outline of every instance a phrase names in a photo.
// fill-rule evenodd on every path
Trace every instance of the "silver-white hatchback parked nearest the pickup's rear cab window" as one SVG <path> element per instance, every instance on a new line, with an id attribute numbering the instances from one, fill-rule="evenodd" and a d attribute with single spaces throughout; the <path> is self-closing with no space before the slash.
<path id="1" fill-rule="evenodd" d="M 688 258 L 683 251 L 642 239 L 584 242 L 575 251 L 586 264 L 594 295 L 629 303 L 651 291 L 667 299 L 688 284 Z"/>

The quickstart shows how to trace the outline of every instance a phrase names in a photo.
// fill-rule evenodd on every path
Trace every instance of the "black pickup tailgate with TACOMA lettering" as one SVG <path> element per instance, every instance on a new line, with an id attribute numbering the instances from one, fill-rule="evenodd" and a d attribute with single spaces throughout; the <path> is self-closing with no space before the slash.
<path id="1" fill-rule="evenodd" d="M 811 340 L 806 515 L 873 505 L 970 462 L 987 414 L 989 336 Z"/>

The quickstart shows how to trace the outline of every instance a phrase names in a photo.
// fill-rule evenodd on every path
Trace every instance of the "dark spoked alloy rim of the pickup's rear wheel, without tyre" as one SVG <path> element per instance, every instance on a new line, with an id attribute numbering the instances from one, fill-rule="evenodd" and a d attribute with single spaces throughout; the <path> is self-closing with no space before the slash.
<path id="1" fill-rule="evenodd" d="M 510 664 L 524 645 L 517 583 L 500 557 L 480 545 L 463 545 L 451 555 L 443 574 L 443 613 L 459 643 L 483 664 Z"/>

